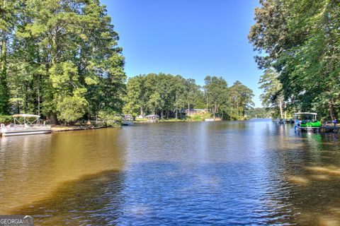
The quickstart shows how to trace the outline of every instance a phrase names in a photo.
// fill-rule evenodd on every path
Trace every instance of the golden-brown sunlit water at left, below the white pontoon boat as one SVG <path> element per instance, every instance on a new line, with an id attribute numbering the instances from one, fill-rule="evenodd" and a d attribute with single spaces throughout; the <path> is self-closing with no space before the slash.
<path id="1" fill-rule="evenodd" d="M 40 201 L 85 175 L 120 171 L 124 152 L 115 129 L 0 138 L 0 214 Z"/>

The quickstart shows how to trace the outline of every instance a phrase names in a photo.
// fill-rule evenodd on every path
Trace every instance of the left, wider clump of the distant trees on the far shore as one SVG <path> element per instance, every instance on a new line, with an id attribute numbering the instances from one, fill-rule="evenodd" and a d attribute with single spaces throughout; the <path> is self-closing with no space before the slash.
<path id="1" fill-rule="evenodd" d="M 195 80 L 164 73 L 149 73 L 130 78 L 127 83 L 124 112 L 127 114 L 169 114 L 196 105 L 200 87 Z"/>

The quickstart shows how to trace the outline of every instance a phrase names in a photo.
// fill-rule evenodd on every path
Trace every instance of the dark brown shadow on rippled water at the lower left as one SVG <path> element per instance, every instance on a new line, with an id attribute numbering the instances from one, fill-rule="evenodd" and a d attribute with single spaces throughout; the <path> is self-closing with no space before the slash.
<path id="1" fill-rule="evenodd" d="M 123 180 L 118 170 L 85 175 L 11 214 L 34 215 L 37 225 L 113 225 L 123 202 Z"/>

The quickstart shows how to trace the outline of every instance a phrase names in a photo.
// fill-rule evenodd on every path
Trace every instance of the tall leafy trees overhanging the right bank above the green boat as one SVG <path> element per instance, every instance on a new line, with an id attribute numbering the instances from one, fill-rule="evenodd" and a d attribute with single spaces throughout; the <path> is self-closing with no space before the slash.
<path id="1" fill-rule="evenodd" d="M 340 3 L 262 0 L 249 41 L 264 73 L 263 105 L 284 113 L 340 116 Z"/>

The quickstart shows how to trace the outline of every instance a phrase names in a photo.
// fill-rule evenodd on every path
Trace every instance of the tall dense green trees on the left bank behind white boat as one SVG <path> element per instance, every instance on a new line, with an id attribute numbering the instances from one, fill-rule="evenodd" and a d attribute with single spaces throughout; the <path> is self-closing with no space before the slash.
<path id="1" fill-rule="evenodd" d="M 1 1 L 0 114 L 121 111 L 124 58 L 98 0 Z"/>

